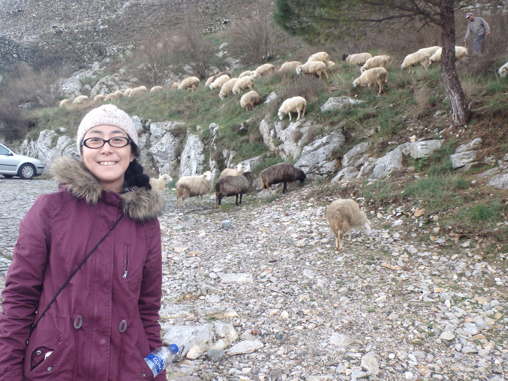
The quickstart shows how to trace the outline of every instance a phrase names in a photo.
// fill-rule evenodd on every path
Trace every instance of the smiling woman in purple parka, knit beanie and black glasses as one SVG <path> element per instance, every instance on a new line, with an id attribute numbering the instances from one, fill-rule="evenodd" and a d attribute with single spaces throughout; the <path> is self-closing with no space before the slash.
<path id="1" fill-rule="evenodd" d="M 82 161 L 52 165 L 58 192 L 22 219 L 2 293 L 0 380 L 153 379 L 143 358 L 162 345 L 163 201 L 136 161 L 137 143 L 132 119 L 104 105 L 79 125 Z"/>

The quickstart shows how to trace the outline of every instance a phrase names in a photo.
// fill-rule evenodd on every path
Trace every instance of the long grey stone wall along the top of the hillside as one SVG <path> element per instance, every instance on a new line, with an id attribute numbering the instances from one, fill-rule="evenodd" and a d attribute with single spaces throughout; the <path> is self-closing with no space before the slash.
<path id="1" fill-rule="evenodd" d="M 239 0 L 0 0 L 0 35 L 89 63 L 123 54 L 149 36 L 175 34 L 188 17 L 203 31 L 221 30 L 251 5 Z"/>

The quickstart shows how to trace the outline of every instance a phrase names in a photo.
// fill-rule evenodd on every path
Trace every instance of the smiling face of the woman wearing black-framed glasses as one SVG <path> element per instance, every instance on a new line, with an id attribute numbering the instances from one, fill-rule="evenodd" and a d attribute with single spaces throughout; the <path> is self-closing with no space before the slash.
<path id="1" fill-rule="evenodd" d="M 83 140 L 88 138 L 108 140 L 116 136 L 129 137 L 122 129 L 103 124 L 88 130 Z M 120 193 L 123 190 L 125 170 L 135 158 L 131 145 L 116 148 L 105 143 L 100 148 L 88 148 L 83 145 L 81 149 L 85 167 L 97 178 L 102 188 Z"/>

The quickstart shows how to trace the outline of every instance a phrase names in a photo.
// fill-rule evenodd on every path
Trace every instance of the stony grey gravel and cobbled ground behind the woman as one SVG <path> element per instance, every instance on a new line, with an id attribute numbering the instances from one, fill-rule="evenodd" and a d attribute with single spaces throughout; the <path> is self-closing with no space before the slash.
<path id="1" fill-rule="evenodd" d="M 0 179 L 0 187 L 3 288 L 19 220 L 56 184 Z M 226 323 L 238 336 L 191 349 L 168 377 L 508 380 L 505 257 L 484 258 L 474 242 L 438 233 L 430 240 L 419 228 L 428 216 L 401 208 L 368 213 L 372 236 L 354 233 L 337 252 L 329 201 L 317 195 L 306 185 L 244 197 L 241 207 L 226 198 L 221 211 L 209 198 L 205 207 L 188 200 L 183 214 L 165 191 L 163 335 Z"/>

